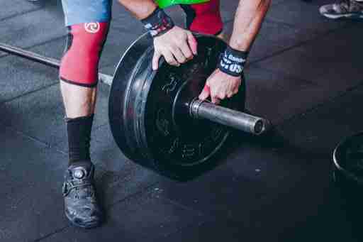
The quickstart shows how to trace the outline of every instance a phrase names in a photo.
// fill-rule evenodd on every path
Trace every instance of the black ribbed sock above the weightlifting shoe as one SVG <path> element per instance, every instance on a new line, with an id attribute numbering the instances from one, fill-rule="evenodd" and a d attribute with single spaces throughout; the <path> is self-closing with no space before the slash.
<path id="1" fill-rule="evenodd" d="M 65 119 L 68 134 L 69 165 L 79 161 L 91 162 L 89 146 L 93 120 L 94 114 L 76 119 Z"/>

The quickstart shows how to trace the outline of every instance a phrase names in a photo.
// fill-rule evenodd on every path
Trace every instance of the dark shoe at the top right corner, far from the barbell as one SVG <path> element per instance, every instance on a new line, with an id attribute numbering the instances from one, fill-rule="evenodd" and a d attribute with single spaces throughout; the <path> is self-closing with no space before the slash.
<path id="1" fill-rule="evenodd" d="M 320 14 L 327 18 L 363 18 L 363 0 L 341 0 L 320 6 Z"/>

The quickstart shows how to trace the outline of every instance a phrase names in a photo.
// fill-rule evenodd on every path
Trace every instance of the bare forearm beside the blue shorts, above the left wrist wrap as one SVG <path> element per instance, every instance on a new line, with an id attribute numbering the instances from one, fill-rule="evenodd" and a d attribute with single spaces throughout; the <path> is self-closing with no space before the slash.
<path id="1" fill-rule="evenodd" d="M 139 20 L 150 16 L 157 8 L 157 4 L 152 0 L 118 0 L 118 2 Z"/>

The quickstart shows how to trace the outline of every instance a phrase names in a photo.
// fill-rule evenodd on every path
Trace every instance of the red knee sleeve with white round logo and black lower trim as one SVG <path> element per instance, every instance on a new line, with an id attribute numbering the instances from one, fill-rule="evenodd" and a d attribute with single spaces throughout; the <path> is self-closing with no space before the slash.
<path id="1" fill-rule="evenodd" d="M 99 57 L 108 23 L 80 23 L 69 27 L 67 49 L 60 63 L 60 79 L 83 87 L 95 87 Z"/>

